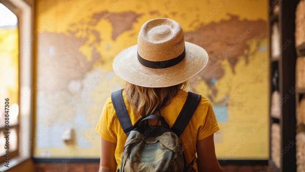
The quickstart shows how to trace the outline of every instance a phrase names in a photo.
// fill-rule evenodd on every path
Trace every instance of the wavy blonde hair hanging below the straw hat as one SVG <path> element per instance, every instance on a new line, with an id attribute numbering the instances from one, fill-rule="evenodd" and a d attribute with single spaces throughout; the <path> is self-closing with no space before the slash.
<path id="1" fill-rule="evenodd" d="M 185 90 L 187 86 L 188 81 L 162 88 L 142 87 L 127 82 L 125 93 L 127 103 L 130 103 L 137 115 L 142 118 L 143 116 L 151 115 L 156 108 L 159 108 L 165 97 L 168 96 L 168 104 L 176 96 L 179 89 Z"/>

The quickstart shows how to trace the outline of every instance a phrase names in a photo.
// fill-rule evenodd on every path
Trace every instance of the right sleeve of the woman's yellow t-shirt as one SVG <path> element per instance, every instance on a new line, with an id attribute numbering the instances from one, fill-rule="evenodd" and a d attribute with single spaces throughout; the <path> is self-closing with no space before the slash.
<path id="1" fill-rule="evenodd" d="M 210 101 L 206 105 L 206 117 L 203 118 L 202 124 L 197 133 L 197 140 L 202 140 L 219 130 L 215 113 Z"/>

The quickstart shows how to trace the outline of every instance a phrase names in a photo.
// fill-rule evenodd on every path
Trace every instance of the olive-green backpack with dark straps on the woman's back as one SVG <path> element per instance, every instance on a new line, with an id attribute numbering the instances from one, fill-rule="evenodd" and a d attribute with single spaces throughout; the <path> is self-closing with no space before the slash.
<path id="1" fill-rule="evenodd" d="M 162 106 L 152 115 L 139 119 L 135 126 L 132 126 L 122 90 L 111 93 L 117 118 L 128 136 L 121 157 L 120 171 L 195 171 L 192 168 L 194 160 L 186 164 L 179 137 L 195 112 L 200 99 L 201 95 L 188 92 L 185 104 L 171 128 L 162 116 L 155 115 Z M 163 101 L 163 106 L 166 101 Z M 161 121 L 161 125 L 149 125 L 148 119 L 157 119 L 158 122 Z"/>

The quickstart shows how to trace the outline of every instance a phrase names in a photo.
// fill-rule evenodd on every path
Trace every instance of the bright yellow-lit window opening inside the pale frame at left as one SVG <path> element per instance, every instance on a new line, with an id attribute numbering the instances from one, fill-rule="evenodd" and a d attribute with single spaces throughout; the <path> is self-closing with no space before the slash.
<path id="1" fill-rule="evenodd" d="M 18 155 L 19 60 L 17 16 L 1 3 L 0 11 L 0 161 L 3 162 L 6 151 L 9 158 Z M 8 146 L 5 135 L 9 136 Z"/>

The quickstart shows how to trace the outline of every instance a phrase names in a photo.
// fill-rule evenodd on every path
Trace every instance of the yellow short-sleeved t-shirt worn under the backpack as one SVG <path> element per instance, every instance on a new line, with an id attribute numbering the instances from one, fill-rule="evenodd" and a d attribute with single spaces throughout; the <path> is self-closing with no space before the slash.
<path id="1" fill-rule="evenodd" d="M 184 90 L 179 90 L 177 95 L 172 101 L 160 109 L 161 116 L 164 117 L 170 127 L 174 125 L 183 104 L 186 101 L 188 93 Z M 135 125 L 139 119 L 138 115 L 134 112 L 131 104 L 127 104 L 126 93 L 123 91 L 123 99 L 131 120 L 132 125 Z M 159 113 L 157 112 L 157 115 Z M 160 124 L 160 122 L 159 122 Z M 116 112 L 113 108 L 111 97 L 109 97 L 103 107 L 102 114 L 95 130 L 107 141 L 117 143 L 115 150 L 115 159 L 120 167 L 121 155 L 123 153 L 124 145 L 127 140 L 127 135 L 122 130 L 119 120 L 117 119 Z M 185 158 L 187 164 L 191 163 L 194 159 L 193 168 L 197 170 L 196 164 L 196 140 L 204 139 L 219 130 L 217 120 L 208 99 L 201 97 L 201 101 L 193 114 L 190 122 L 181 134 L 180 141 L 185 150 Z"/>

